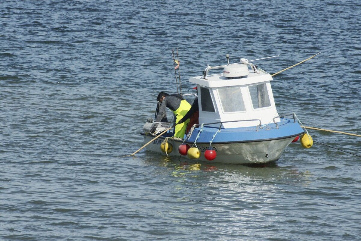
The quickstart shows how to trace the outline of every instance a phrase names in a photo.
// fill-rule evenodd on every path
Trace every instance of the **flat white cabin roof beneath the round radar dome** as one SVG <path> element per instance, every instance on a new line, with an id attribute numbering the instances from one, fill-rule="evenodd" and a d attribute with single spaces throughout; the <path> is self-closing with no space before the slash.
<path id="1" fill-rule="evenodd" d="M 253 83 L 271 81 L 273 78 L 264 70 L 258 70 L 259 73 L 249 72 L 249 75 L 238 79 L 229 79 L 223 77 L 222 73 L 208 75 L 207 79 L 202 76 L 196 76 L 189 78 L 189 81 L 197 85 L 202 85 L 209 88 L 214 87 L 226 87 L 226 86 L 238 86 L 249 85 Z"/>

